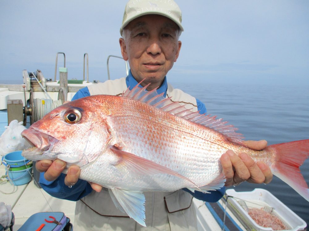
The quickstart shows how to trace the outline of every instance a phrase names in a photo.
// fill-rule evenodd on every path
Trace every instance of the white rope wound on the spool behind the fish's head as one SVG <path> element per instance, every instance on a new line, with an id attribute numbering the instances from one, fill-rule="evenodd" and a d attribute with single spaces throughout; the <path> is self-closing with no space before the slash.
<path id="1" fill-rule="evenodd" d="M 33 99 L 33 117 L 34 122 L 43 118 L 44 115 L 62 105 L 61 100 L 52 99 Z"/>

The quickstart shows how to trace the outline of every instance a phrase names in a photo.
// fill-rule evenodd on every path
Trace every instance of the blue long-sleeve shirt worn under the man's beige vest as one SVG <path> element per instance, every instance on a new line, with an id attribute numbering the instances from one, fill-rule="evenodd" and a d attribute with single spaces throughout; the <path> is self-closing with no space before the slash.
<path id="1" fill-rule="evenodd" d="M 134 79 L 131 71 L 129 71 L 129 75 L 126 78 L 126 85 L 130 88 L 130 90 L 135 87 L 138 82 Z M 140 86 L 141 87 L 141 86 Z M 164 92 L 164 97 L 166 96 L 167 92 L 167 80 L 164 77 L 162 85 L 157 89 L 158 94 Z M 87 87 L 84 87 L 76 92 L 73 96 L 72 100 L 80 99 L 86 96 L 90 96 L 90 92 Z M 197 101 L 197 108 L 201 114 L 206 113 L 205 104 L 202 103 L 200 100 L 196 99 Z M 40 185 L 41 187 L 49 193 L 53 197 L 57 197 L 60 199 L 66 199 L 70 201 L 78 201 L 79 199 L 87 196 L 89 193 L 92 192 L 92 188 L 90 184 L 85 181 L 78 179 L 77 183 L 72 187 L 69 188 L 64 184 L 65 174 L 61 174 L 56 180 L 48 181 L 44 178 L 44 172 L 40 173 Z M 184 189 L 185 191 L 191 193 L 195 198 L 203 201 L 208 202 L 215 202 L 221 199 L 224 195 L 225 187 L 220 188 L 216 191 L 211 191 L 211 193 L 202 193 L 199 191 L 195 191 L 194 193 L 189 191 L 188 189 Z"/>

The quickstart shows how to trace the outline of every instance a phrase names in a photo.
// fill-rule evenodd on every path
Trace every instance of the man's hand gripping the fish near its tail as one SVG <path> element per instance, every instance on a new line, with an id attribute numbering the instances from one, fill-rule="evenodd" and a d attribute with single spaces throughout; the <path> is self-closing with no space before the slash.
<path id="1" fill-rule="evenodd" d="M 264 149 L 267 146 L 266 140 L 243 141 L 248 148 L 255 150 Z M 257 163 L 248 154 L 242 152 L 238 156 L 235 152 L 228 150 L 221 158 L 222 168 L 226 177 L 225 186 L 240 184 L 243 181 L 250 183 L 268 184 L 273 179 L 269 166 L 264 162 Z"/>

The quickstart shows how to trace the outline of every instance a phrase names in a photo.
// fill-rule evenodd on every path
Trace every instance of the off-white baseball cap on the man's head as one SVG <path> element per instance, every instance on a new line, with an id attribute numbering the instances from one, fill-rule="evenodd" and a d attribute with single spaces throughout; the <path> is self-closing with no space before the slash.
<path id="1" fill-rule="evenodd" d="M 120 34 L 122 30 L 133 19 L 141 17 L 146 14 L 163 15 L 174 21 L 184 31 L 181 26 L 181 10 L 173 0 L 130 0 L 125 5 L 125 13 L 123 14 L 122 26 L 120 27 Z"/>

